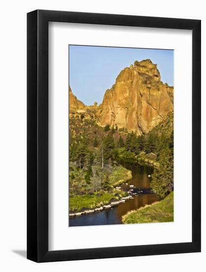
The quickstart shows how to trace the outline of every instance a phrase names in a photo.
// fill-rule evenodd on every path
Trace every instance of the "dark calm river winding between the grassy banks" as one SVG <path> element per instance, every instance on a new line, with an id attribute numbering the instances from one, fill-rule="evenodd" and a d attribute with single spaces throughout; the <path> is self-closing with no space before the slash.
<path id="1" fill-rule="evenodd" d="M 119 163 L 132 172 L 132 180 L 127 182 L 128 185 L 122 184 L 122 189 L 128 191 L 129 185 L 132 184 L 134 185 L 133 192 L 137 192 L 138 195 L 133 195 L 133 199 L 126 200 L 124 204 L 114 208 L 70 218 L 69 227 L 122 224 L 122 216 L 128 211 L 138 209 L 157 200 L 156 195 L 150 191 L 151 178 L 148 175 L 153 173 L 152 167 L 131 162 L 119 161 Z"/>

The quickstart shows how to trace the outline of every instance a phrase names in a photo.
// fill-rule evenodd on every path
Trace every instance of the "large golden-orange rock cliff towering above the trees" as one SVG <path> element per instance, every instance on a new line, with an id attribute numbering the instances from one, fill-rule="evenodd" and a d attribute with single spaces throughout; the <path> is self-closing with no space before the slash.
<path id="1" fill-rule="evenodd" d="M 142 134 L 172 110 L 173 87 L 162 83 L 157 64 L 146 59 L 121 71 L 116 83 L 105 92 L 97 122 Z"/>

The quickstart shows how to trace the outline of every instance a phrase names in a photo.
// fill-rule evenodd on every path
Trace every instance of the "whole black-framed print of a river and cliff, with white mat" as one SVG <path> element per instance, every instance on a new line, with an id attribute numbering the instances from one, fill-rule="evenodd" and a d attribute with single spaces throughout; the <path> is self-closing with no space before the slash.
<path id="1" fill-rule="evenodd" d="M 27 14 L 27 258 L 201 251 L 201 21 Z"/>

